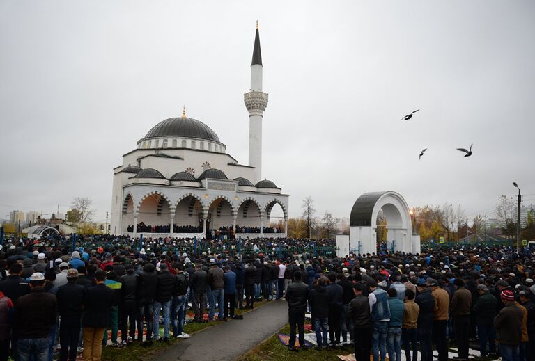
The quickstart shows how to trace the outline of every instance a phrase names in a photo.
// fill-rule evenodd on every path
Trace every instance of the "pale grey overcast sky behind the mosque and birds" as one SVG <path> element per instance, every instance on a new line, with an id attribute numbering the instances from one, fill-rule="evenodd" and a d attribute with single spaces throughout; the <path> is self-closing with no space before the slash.
<path id="1" fill-rule="evenodd" d="M 534 1 L 3 0 L 0 218 L 87 196 L 104 220 L 122 154 L 183 104 L 247 164 L 256 19 L 290 216 L 370 191 L 490 214 L 513 181 L 535 202 Z"/>

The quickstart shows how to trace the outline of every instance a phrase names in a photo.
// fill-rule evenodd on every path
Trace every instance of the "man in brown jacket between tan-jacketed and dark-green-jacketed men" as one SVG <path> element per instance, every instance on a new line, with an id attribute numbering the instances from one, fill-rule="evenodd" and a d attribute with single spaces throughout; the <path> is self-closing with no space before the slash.
<path id="1" fill-rule="evenodd" d="M 453 317 L 453 330 L 459 351 L 459 361 L 468 360 L 468 338 L 470 337 L 470 307 L 472 307 L 472 294 L 465 289 L 465 281 L 456 278 L 453 281 L 457 291 L 451 298 L 451 316 Z"/>

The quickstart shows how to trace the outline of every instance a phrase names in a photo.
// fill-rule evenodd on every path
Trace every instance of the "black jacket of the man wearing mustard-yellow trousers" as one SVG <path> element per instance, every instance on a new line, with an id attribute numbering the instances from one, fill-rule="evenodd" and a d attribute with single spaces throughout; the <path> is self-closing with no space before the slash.
<path id="1" fill-rule="evenodd" d="M 114 290 L 105 284 L 97 284 L 95 287 L 86 289 L 82 326 L 91 328 L 109 327 L 109 310 L 114 304 L 114 297 Z"/>

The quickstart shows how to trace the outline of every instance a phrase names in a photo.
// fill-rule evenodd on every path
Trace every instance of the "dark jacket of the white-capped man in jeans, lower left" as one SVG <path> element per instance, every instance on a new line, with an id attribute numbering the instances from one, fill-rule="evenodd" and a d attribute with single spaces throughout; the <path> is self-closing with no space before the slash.
<path id="1" fill-rule="evenodd" d="M 21 296 L 15 303 L 15 326 L 20 339 L 42 339 L 48 337 L 50 328 L 56 323 L 58 304 L 56 296 L 45 289 L 33 289 Z"/>

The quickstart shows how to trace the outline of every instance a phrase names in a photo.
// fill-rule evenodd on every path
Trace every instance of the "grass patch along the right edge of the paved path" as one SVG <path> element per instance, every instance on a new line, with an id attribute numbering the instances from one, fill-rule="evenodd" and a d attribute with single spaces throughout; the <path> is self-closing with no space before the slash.
<path id="1" fill-rule="evenodd" d="M 290 334 L 290 326 L 286 325 L 279 330 L 278 333 Z M 314 360 L 327 361 L 338 360 L 338 355 L 348 355 L 352 353 L 352 346 L 346 348 L 336 348 L 335 350 L 317 351 L 316 348 L 309 348 L 305 351 L 293 352 L 288 350 L 279 341 L 277 334 L 273 335 L 265 342 L 255 346 L 251 351 L 245 353 L 238 358 L 238 361 L 299 361 L 299 360 Z"/>

